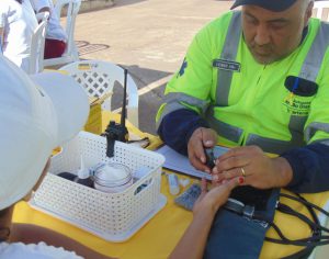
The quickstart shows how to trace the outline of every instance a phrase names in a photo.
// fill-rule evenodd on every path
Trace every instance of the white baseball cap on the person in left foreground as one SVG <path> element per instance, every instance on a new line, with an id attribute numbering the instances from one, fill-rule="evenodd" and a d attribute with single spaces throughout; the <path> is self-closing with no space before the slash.
<path id="1" fill-rule="evenodd" d="M 0 55 L 0 210 L 24 198 L 52 150 L 84 125 L 89 102 L 69 76 L 33 77 Z"/>

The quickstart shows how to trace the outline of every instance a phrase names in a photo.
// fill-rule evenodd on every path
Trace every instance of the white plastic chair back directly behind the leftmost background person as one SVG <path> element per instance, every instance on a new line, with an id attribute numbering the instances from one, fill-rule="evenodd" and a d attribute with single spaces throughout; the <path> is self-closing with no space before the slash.
<path id="1" fill-rule="evenodd" d="M 31 40 L 29 74 L 37 74 L 44 69 L 45 38 L 48 18 L 48 12 L 41 12 L 36 14 L 36 19 L 39 24 L 34 30 Z"/>

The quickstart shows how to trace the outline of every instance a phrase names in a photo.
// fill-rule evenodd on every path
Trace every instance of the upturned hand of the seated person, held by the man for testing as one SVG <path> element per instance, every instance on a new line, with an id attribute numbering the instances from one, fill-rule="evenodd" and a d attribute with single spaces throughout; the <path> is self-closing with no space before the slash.
<path id="1" fill-rule="evenodd" d="M 231 190 L 240 183 L 239 178 L 230 179 L 222 184 L 213 182 L 212 190 L 207 191 L 206 180 L 202 179 L 202 192 L 194 203 L 193 214 L 211 213 L 214 216 L 218 209 L 227 201 Z"/>

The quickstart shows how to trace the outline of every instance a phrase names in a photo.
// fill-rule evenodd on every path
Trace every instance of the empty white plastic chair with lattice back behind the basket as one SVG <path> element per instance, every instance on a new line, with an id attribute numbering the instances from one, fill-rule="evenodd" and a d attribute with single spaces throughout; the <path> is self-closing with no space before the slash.
<path id="1" fill-rule="evenodd" d="M 107 111 L 111 111 L 114 82 L 117 81 L 122 87 L 124 86 L 124 69 L 109 61 L 76 61 L 59 70 L 72 76 L 77 82 L 83 86 L 89 97 L 102 97 L 111 93 L 102 104 L 102 109 Z M 129 75 L 127 76 L 127 120 L 138 128 L 138 89 Z"/>

